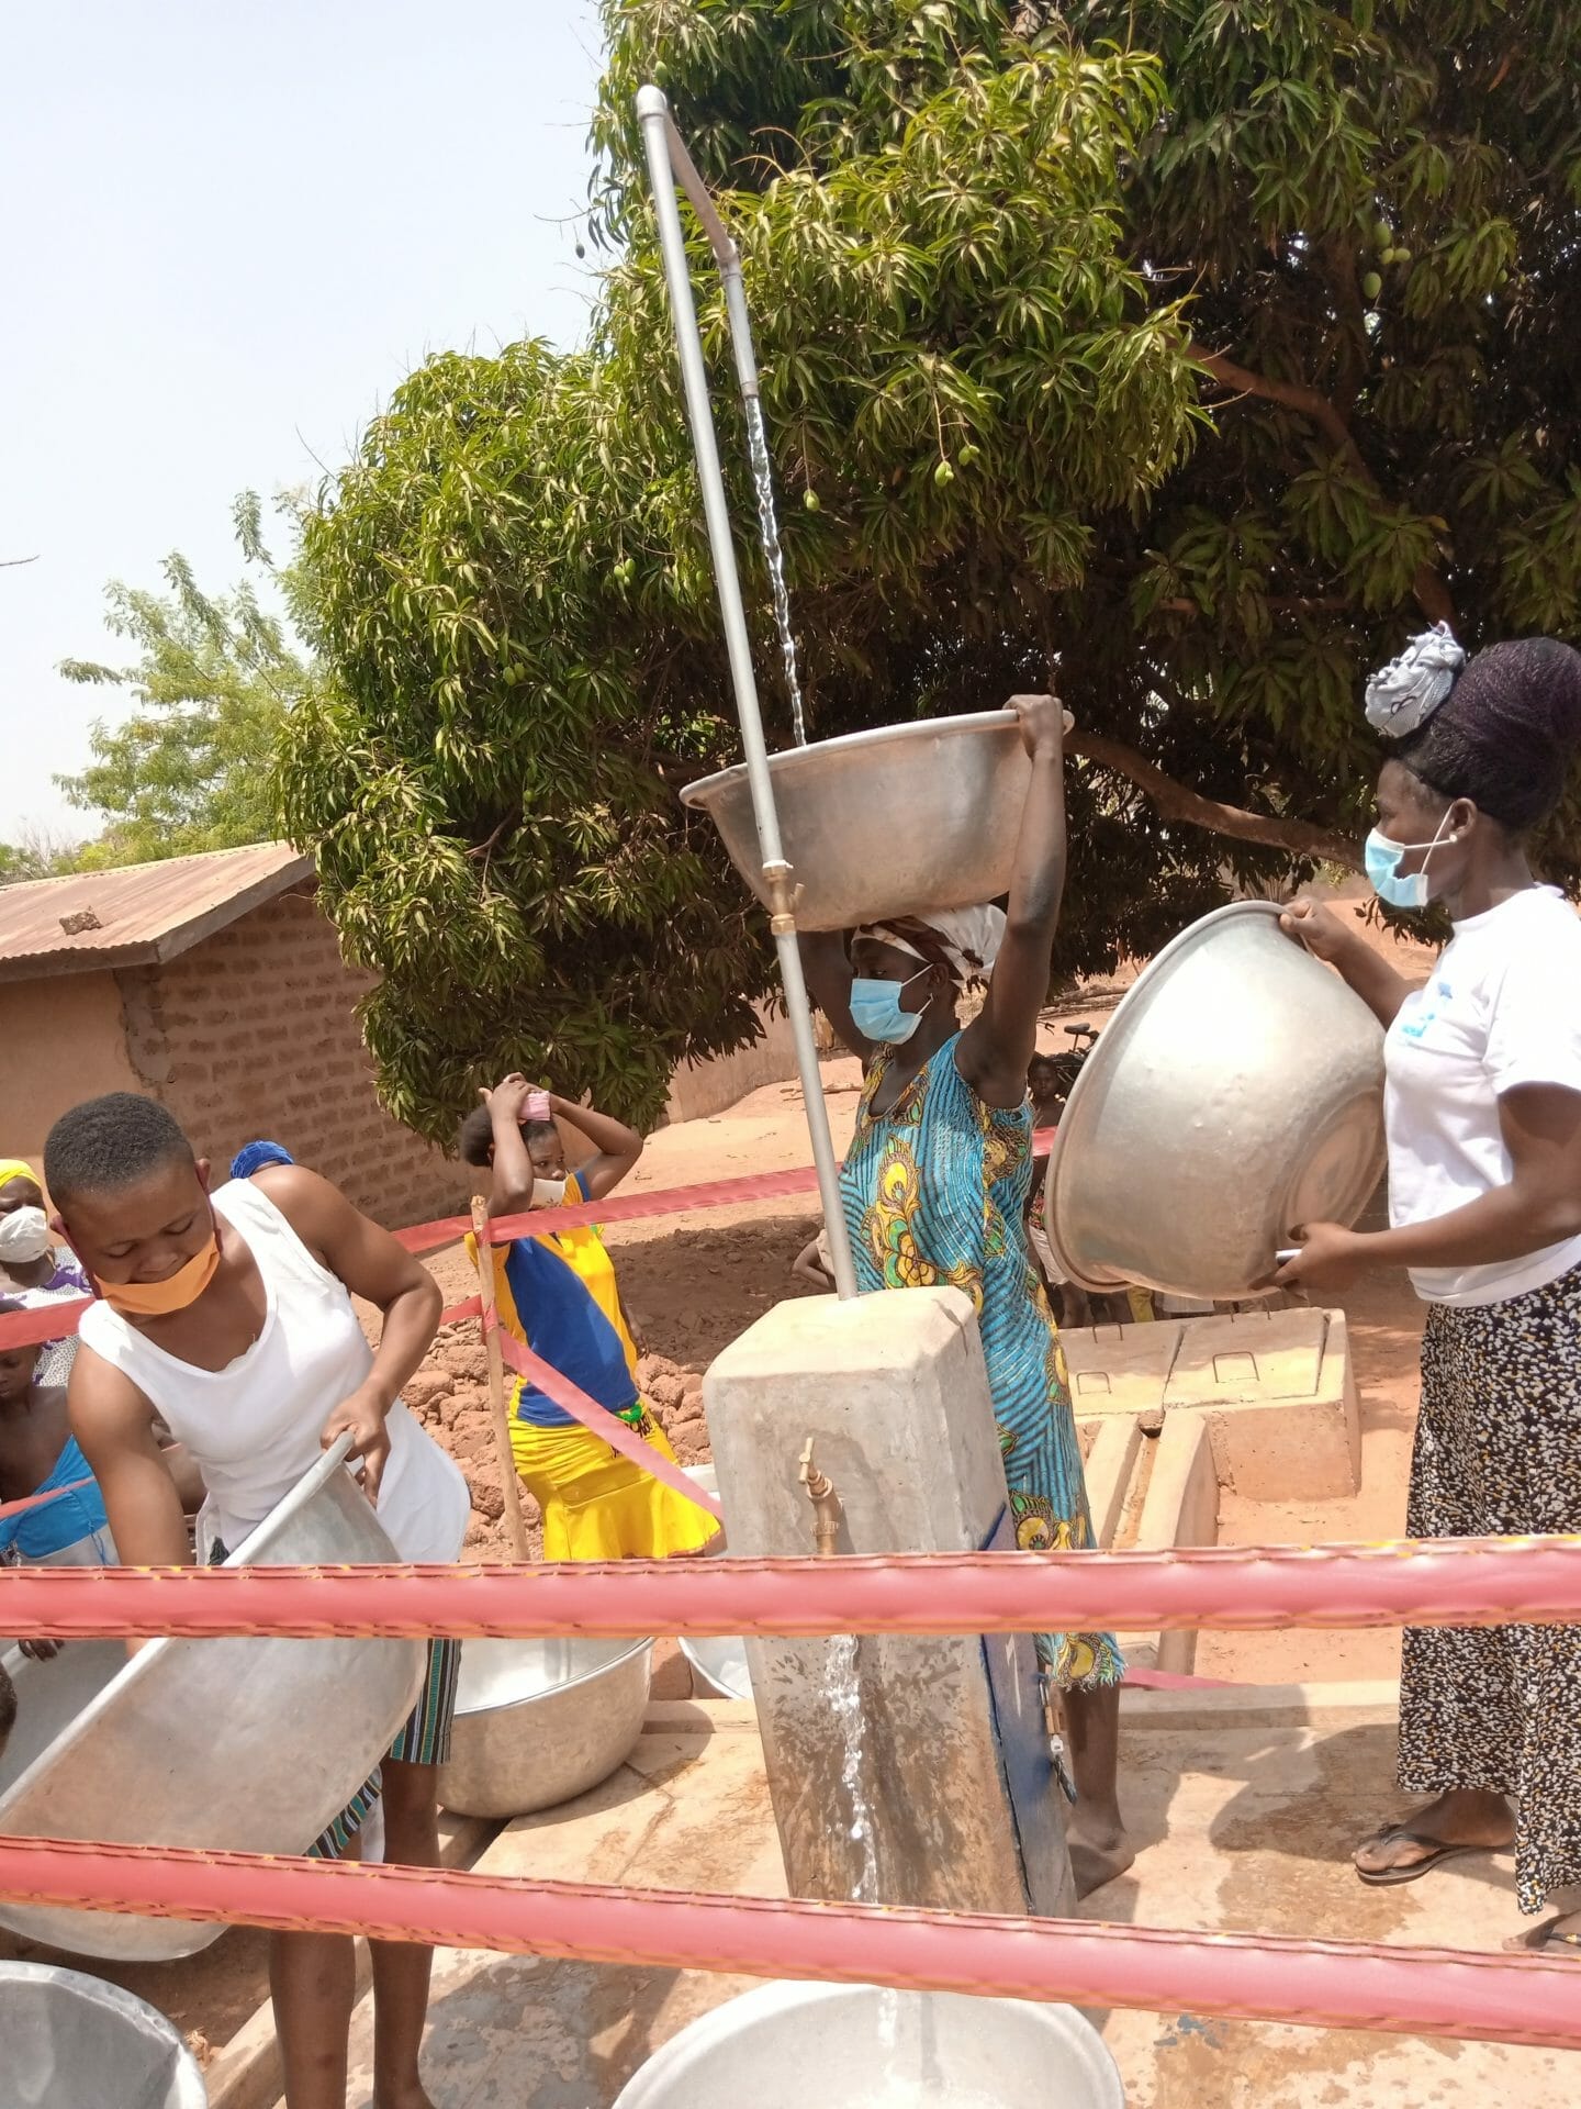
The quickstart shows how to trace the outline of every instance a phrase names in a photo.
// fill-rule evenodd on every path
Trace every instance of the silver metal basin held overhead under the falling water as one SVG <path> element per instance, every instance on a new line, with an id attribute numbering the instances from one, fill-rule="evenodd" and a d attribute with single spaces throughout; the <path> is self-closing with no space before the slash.
<path id="1" fill-rule="evenodd" d="M 1010 886 L 1031 759 L 1014 711 L 852 732 L 769 755 L 784 854 L 803 930 L 963 909 Z M 746 766 L 681 793 L 763 894 Z"/>

